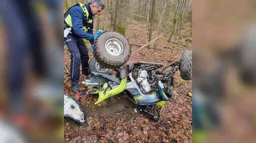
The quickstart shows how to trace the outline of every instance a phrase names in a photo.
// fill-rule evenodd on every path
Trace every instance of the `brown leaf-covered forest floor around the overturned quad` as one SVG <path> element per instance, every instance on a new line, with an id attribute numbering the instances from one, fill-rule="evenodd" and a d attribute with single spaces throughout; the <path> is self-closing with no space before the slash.
<path id="1" fill-rule="evenodd" d="M 110 31 L 109 15 L 102 21 L 103 30 Z M 178 61 L 184 51 L 192 49 L 192 39 L 187 34 L 191 31 L 190 24 L 185 24 L 182 39 L 168 43 L 168 37 L 162 36 L 157 40 L 157 46 L 141 49 L 131 56 L 129 62 L 160 62 L 167 65 Z M 148 33 L 146 24 L 129 19 L 126 38 L 131 44 L 132 53 L 148 43 Z M 91 59 L 93 54 L 90 46 L 87 47 Z M 64 54 L 64 90 L 66 95 L 73 95 L 70 88 L 70 54 L 67 50 Z M 192 92 L 192 81 L 182 80 L 179 71 L 174 78 L 173 98 L 163 106 L 161 112 L 162 120 L 170 126 L 169 133 L 165 133 L 160 124 L 147 116 L 134 113 L 133 104 L 126 95 L 111 97 L 97 106 L 93 103 L 98 97 L 93 95 L 83 98 L 81 102 L 87 117 L 86 125 L 81 126 L 65 118 L 64 142 L 192 142 L 192 98 L 187 96 L 188 92 Z"/>

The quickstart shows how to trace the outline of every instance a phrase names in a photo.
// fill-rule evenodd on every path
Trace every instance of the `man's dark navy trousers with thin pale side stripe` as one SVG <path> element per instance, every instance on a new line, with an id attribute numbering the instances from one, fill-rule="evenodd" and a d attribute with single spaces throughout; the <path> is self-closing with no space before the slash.
<path id="1" fill-rule="evenodd" d="M 81 37 L 69 33 L 65 38 L 68 51 L 70 52 L 70 78 L 72 86 L 78 85 L 80 65 L 82 63 L 82 74 L 88 75 L 89 55 L 84 40 Z"/>

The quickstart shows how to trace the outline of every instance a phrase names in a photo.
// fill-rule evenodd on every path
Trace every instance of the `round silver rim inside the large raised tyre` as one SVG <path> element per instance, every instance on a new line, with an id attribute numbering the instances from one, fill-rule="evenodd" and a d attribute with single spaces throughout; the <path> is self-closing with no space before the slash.
<path id="1" fill-rule="evenodd" d="M 124 51 L 122 42 L 116 38 L 110 38 L 105 43 L 105 48 L 111 56 L 119 56 Z"/>

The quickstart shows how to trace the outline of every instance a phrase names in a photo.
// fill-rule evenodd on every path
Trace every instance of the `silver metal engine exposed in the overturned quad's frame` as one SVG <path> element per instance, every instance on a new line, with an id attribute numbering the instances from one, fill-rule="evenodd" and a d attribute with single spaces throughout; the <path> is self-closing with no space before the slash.
<path id="1" fill-rule="evenodd" d="M 146 70 L 140 70 L 139 74 L 138 74 L 137 82 L 140 85 L 140 89 L 144 93 L 151 91 L 151 88 L 150 88 L 147 78 L 148 78 L 148 72 Z"/>

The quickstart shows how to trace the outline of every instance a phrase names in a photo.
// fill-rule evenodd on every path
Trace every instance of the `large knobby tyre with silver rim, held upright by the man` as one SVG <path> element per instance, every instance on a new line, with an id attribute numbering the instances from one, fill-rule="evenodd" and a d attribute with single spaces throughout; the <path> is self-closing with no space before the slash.
<path id="1" fill-rule="evenodd" d="M 120 33 L 103 32 L 94 41 L 94 57 L 104 68 L 120 68 L 130 58 L 129 41 Z"/>

